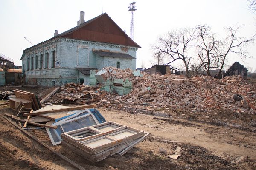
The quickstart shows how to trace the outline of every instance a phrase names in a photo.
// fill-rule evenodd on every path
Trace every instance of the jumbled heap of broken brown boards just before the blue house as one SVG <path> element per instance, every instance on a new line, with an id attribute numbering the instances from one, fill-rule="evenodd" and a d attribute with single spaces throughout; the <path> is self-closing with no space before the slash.
<path id="1" fill-rule="evenodd" d="M 78 103 L 78 104 L 89 104 L 92 102 L 99 102 L 107 92 L 100 91 L 99 86 L 87 86 L 80 85 L 76 83 L 67 83 L 61 87 L 53 87 L 47 91 L 44 91 L 43 94 L 39 94 L 41 98 L 44 97 L 43 101 L 45 104 L 58 104 L 58 103 Z M 42 100 L 41 100 L 42 101 Z"/>

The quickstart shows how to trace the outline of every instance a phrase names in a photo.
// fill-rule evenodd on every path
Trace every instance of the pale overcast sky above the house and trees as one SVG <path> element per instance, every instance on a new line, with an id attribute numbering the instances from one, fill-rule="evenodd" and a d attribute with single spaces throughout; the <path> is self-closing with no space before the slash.
<path id="1" fill-rule="evenodd" d="M 79 12 L 85 12 L 85 21 L 106 12 L 120 28 L 130 35 L 128 6 L 133 0 L 0 0 L 0 53 L 21 65 L 23 50 L 54 35 L 73 28 Z M 137 51 L 137 68 L 143 62 L 151 66 L 151 45 L 157 37 L 170 30 L 207 24 L 212 31 L 224 35 L 225 26 L 243 24 L 242 37 L 256 33 L 256 13 L 248 10 L 247 0 L 136 0 L 134 12 L 134 41 L 142 48 Z M 229 56 L 228 64 L 239 61 L 256 69 L 256 45 L 247 48 L 252 59 L 241 61 Z M 173 66 L 179 67 L 181 62 Z M 254 70 L 253 69 L 253 70 Z M 250 71 L 250 70 L 249 70 Z"/>

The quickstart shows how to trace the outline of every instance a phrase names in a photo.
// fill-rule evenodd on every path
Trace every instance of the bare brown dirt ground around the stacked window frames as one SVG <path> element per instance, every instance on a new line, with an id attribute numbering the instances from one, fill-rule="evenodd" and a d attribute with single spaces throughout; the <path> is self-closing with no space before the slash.
<path id="1" fill-rule="evenodd" d="M 0 88 L 6 91 L 12 88 Z M 15 88 L 14 88 L 15 89 Z M 13 89 L 13 90 L 14 90 Z M 35 94 L 44 89 L 26 89 Z M 6 104 L 4 104 L 6 103 Z M 52 146 L 45 129 L 27 130 L 67 158 L 90 170 L 254 170 L 256 169 L 256 115 L 227 110 L 209 113 L 121 105 L 100 106 L 107 121 L 150 132 L 145 141 L 123 156 L 92 164 L 81 156 Z M 117 109 L 119 108 L 119 109 Z M 27 137 L 3 118 L 13 113 L 0 103 L 0 169 L 73 170 L 70 164 Z M 178 159 L 168 156 L 181 147 Z"/>

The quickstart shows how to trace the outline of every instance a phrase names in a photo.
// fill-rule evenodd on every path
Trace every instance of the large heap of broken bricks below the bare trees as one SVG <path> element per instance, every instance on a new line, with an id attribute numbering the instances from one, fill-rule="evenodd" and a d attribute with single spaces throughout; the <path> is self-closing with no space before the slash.
<path id="1" fill-rule="evenodd" d="M 256 109 L 256 92 L 240 76 L 218 80 L 210 76 L 187 79 L 177 75 L 146 75 L 134 77 L 132 82 L 134 90 L 127 99 L 131 105 L 193 111 L 227 108 L 239 112 L 254 112 Z M 234 101 L 233 94 L 244 96 L 244 100 Z"/>

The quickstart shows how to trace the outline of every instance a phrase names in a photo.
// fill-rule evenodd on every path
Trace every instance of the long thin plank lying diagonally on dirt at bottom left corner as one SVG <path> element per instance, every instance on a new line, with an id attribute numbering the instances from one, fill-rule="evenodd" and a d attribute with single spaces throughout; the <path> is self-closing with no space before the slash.
<path id="1" fill-rule="evenodd" d="M 68 163 L 70 163 L 73 167 L 76 167 L 79 170 L 85 170 L 83 167 L 81 167 L 79 164 L 76 164 L 75 162 L 71 161 L 70 159 L 68 159 L 66 156 L 62 155 L 61 153 L 58 153 L 56 150 L 52 149 L 51 147 L 49 147 L 47 144 L 45 144 L 44 142 L 42 142 L 41 140 L 37 139 L 35 136 L 33 136 L 32 134 L 30 134 L 29 132 L 27 132 L 26 130 L 20 128 L 19 126 L 17 126 L 15 124 L 15 122 L 9 120 L 8 118 L 6 118 L 4 116 L 4 118 L 12 123 L 12 125 L 15 125 L 15 127 L 17 127 L 20 131 L 22 131 L 23 133 L 25 133 L 27 136 L 31 137 L 32 139 L 34 139 L 36 142 L 40 143 L 41 145 L 43 145 L 44 147 L 46 147 L 48 150 L 50 150 L 52 153 L 54 153 L 55 155 L 61 157 L 61 159 L 64 159 L 65 161 L 67 161 Z"/>

